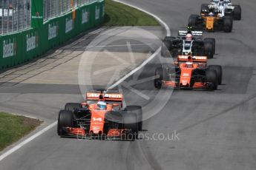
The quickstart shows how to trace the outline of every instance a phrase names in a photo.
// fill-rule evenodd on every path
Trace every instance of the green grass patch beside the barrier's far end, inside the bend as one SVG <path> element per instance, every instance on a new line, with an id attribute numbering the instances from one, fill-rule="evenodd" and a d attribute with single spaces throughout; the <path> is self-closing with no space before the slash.
<path id="1" fill-rule="evenodd" d="M 140 10 L 105 0 L 105 26 L 159 26 L 157 20 Z"/>

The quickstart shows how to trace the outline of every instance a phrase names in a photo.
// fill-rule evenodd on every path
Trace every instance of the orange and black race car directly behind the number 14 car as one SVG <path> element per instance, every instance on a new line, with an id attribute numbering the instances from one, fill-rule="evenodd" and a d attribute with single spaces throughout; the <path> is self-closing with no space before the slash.
<path id="1" fill-rule="evenodd" d="M 179 55 L 173 66 L 162 66 L 155 70 L 154 86 L 179 89 L 215 90 L 222 82 L 222 67 L 207 67 L 206 56 Z"/>

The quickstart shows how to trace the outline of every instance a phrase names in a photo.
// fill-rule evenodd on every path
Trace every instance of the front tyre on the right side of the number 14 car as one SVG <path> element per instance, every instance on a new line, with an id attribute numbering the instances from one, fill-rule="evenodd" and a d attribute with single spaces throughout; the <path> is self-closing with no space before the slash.
<path id="1" fill-rule="evenodd" d="M 135 140 L 138 136 L 137 115 L 135 113 L 124 114 L 122 116 L 122 123 L 123 123 L 124 129 L 131 130 L 131 132 L 127 134 L 128 138 L 126 140 Z"/>

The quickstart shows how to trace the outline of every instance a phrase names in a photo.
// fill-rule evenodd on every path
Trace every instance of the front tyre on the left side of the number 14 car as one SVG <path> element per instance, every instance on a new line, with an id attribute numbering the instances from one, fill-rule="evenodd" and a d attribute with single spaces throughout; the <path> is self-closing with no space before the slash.
<path id="1" fill-rule="evenodd" d="M 73 126 L 73 112 L 68 110 L 59 111 L 57 131 L 59 136 L 65 135 L 63 128 Z"/>

